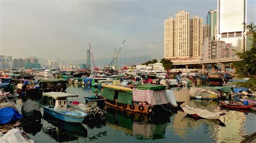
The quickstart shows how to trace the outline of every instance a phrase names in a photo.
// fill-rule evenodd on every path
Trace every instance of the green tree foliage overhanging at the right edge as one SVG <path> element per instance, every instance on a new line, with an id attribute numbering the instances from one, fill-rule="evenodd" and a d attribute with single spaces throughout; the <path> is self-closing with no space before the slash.
<path id="1" fill-rule="evenodd" d="M 256 40 L 256 26 L 251 23 L 250 25 L 246 25 L 246 28 L 254 35 L 253 43 Z M 256 47 L 254 46 L 249 50 L 242 53 L 238 53 L 241 61 L 236 61 L 233 63 L 233 66 L 237 68 L 236 73 L 240 77 L 255 77 L 256 75 Z"/>

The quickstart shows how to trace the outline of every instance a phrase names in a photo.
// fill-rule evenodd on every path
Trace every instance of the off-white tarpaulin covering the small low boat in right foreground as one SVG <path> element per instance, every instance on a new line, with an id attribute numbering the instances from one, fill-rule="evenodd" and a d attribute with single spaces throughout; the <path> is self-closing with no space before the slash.
<path id="1" fill-rule="evenodd" d="M 184 112 L 186 112 L 188 115 L 193 115 L 196 114 L 202 118 L 205 119 L 219 119 L 220 118 L 220 113 L 217 112 L 210 112 L 209 110 L 203 110 L 199 108 L 193 108 L 191 106 L 186 105 L 185 107 L 182 108 Z"/>

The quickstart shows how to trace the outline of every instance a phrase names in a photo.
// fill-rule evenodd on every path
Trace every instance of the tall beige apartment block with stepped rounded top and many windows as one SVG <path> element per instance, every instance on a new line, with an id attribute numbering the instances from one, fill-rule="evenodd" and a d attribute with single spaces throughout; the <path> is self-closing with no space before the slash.
<path id="1" fill-rule="evenodd" d="M 200 58 L 203 44 L 203 18 L 180 10 L 175 19 L 164 22 L 164 58 Z"/>

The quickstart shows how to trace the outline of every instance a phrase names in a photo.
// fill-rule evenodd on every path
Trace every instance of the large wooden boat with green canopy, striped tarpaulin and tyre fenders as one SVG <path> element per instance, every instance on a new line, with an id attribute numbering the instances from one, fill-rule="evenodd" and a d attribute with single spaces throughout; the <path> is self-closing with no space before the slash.
<path id="1" fill-rule="evenodd" d="M 171 105 L 164 85 L 144 84 L 131 89 L 102 85 L 106 105 L 150 116 L 170 116 Z"/>

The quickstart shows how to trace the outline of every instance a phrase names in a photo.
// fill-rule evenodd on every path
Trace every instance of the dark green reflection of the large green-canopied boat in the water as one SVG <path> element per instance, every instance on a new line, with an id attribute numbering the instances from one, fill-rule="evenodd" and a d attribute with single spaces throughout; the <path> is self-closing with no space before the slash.
<path id="1" fill-rule="evenodd" d="M 164 138 L 166 123 L 170 122 L 169 118 L 161 121 L 152 121 L 149 117 L 116 110 L 111 107 L 106 110 L 108 111 L 106 115 L 108 126 L 115 131 L 133 135 L 139 140 Z"/>

